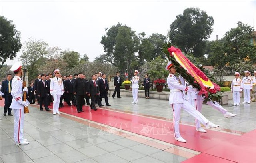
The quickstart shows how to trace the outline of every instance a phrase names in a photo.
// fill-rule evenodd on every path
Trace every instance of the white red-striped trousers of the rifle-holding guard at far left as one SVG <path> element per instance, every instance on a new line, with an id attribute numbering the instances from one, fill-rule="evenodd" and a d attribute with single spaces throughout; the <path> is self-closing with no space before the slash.
<path id="1" fill-rule="evenodd" d="M 12 109 L 14 112 L 13 136 L 15 143 L 23 141 L 24 109 Z"/>

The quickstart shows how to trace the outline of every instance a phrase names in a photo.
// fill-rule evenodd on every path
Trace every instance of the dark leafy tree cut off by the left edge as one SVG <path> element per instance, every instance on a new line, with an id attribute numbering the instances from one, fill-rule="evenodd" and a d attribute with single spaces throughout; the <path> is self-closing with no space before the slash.
<path id="1" fill-rule="evenodd" d="M 0 70 L 8 58 L 11 60 L 20 51 L 20 32 L 16 30 L 12 20 L 0 16 Z"/>

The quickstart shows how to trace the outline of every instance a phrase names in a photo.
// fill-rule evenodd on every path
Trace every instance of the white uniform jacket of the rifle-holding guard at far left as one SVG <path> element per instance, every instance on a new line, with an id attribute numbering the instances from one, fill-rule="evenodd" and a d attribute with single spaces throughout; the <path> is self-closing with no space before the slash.
<path id="1" fill-rule="evenodd" d="M 23 89 L 22 89 L 22 80 L 19 76 L 14 76 L 12 79 L 12 104 L 10 108 L 12 109 L 24 109 L 24 105 L 22 105 L 22 96 L 23 96 Z"/>

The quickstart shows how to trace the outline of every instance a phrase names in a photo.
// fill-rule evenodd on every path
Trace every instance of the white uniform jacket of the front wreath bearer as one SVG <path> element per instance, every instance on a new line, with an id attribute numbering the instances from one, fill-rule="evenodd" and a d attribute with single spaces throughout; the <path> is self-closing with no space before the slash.
<path id="1" fill-rule="evenodd" d="M 184 103 L 184 95 L 182 91 L 192 92 L 193 88 L 186 87 L 179 83 L 179 79 L 173 74 L 169 74 L 167 84 L 170 89 L 169 104 Z"/>

